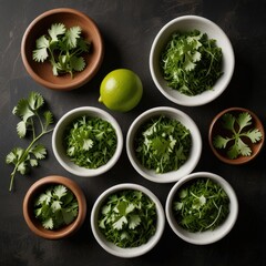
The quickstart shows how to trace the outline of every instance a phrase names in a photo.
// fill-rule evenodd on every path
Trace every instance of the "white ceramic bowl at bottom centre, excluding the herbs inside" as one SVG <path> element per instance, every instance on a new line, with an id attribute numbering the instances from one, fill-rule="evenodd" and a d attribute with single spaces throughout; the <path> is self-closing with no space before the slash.
<path id="1" fill-rule="evenodd" d="M 134 191 L 143 192 L 146 196 L 149 196 L 155 203 L 155 206 L 156 206 L 156 212 L 157 212 L 156 233 L 150 238 L 150 241 L 146 244 L 139 247 L 122 248 L 114 245 L 113 243 L 106 241 L 105 236 L 101 233 L 98 226 L 99 212 L 101 209 L 102 204 L 105 202 L 105 200 L 110 195 L 124 190 L 134 190 Z M 165 226 L 165 215 L 164 215 L 164 209 L 161 202 L 150 190 L 137 184 L 124 183 L 124 184 L 114 185 L 108 188 L 98 197 L 91 212 L 91 228 L 96 242 L 108 253 L 117 257 L 124 257 L 124 258 L 137 257 L 150 252 L 158 243 L 161 236 L 163 235 L 164 226 Z"/>

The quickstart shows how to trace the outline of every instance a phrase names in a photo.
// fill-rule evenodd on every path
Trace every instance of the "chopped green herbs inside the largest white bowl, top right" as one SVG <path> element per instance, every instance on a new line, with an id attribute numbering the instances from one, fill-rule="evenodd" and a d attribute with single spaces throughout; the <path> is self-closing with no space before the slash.
<path id="1" fill-rule="evenodd" d="M 216 41 L 198 30 L 175 32 L 162 52 L 161 66 L 170 88 L 186 95 L 212 90 L 223 74 Z"/>

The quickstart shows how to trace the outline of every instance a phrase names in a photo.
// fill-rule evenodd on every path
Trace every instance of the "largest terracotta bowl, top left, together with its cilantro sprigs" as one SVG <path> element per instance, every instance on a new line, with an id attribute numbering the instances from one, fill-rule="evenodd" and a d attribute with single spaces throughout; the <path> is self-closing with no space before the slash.
<path id="1" fill-rule="evenodd" d="M 28 73 L 39 84 L 53 90 L 84 85 L 96 74 L 103 54 L 96 23 L 70 8 L 52 9 L 38 16 L 21 42 Z"/>

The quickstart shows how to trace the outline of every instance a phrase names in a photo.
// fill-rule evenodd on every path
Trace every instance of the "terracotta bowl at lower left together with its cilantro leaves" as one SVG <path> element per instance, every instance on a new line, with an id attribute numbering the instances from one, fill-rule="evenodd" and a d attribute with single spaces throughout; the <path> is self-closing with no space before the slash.
<path id="1" fill-rule="evenodd" d="M 43 177 L 28 190 L 23 216 L 29 228 L 40 237 L 60 239 L 72 236 L 86 216 L 84 193 L 68 177 Z"/>

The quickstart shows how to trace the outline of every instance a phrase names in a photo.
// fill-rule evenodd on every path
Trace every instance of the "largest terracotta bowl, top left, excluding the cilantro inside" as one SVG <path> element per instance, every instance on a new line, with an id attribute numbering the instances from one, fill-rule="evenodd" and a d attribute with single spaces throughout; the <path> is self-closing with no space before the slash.
<path id="1" fill-rule="evenodd" d="M 81 27 L 82 37 L 92 43 L 91 52 L 84 54 L 86 68 L 74 72 L 73 79 L 70 74 L 53 75 L 48 60 L 40 63 L 32 59 L 37 39 L 47 34 L 53 23 L 63 23 L 66 28 Z M 95 22 L 86 14 L 69 8 L 52 9 L 37 17 L 27 28 L 21 43 L 22 61 L 31 78 L 45 88 L 61 91 L 78 89 L 89 82 L 100 69 L 103 54 L 103 40 Z"/>

